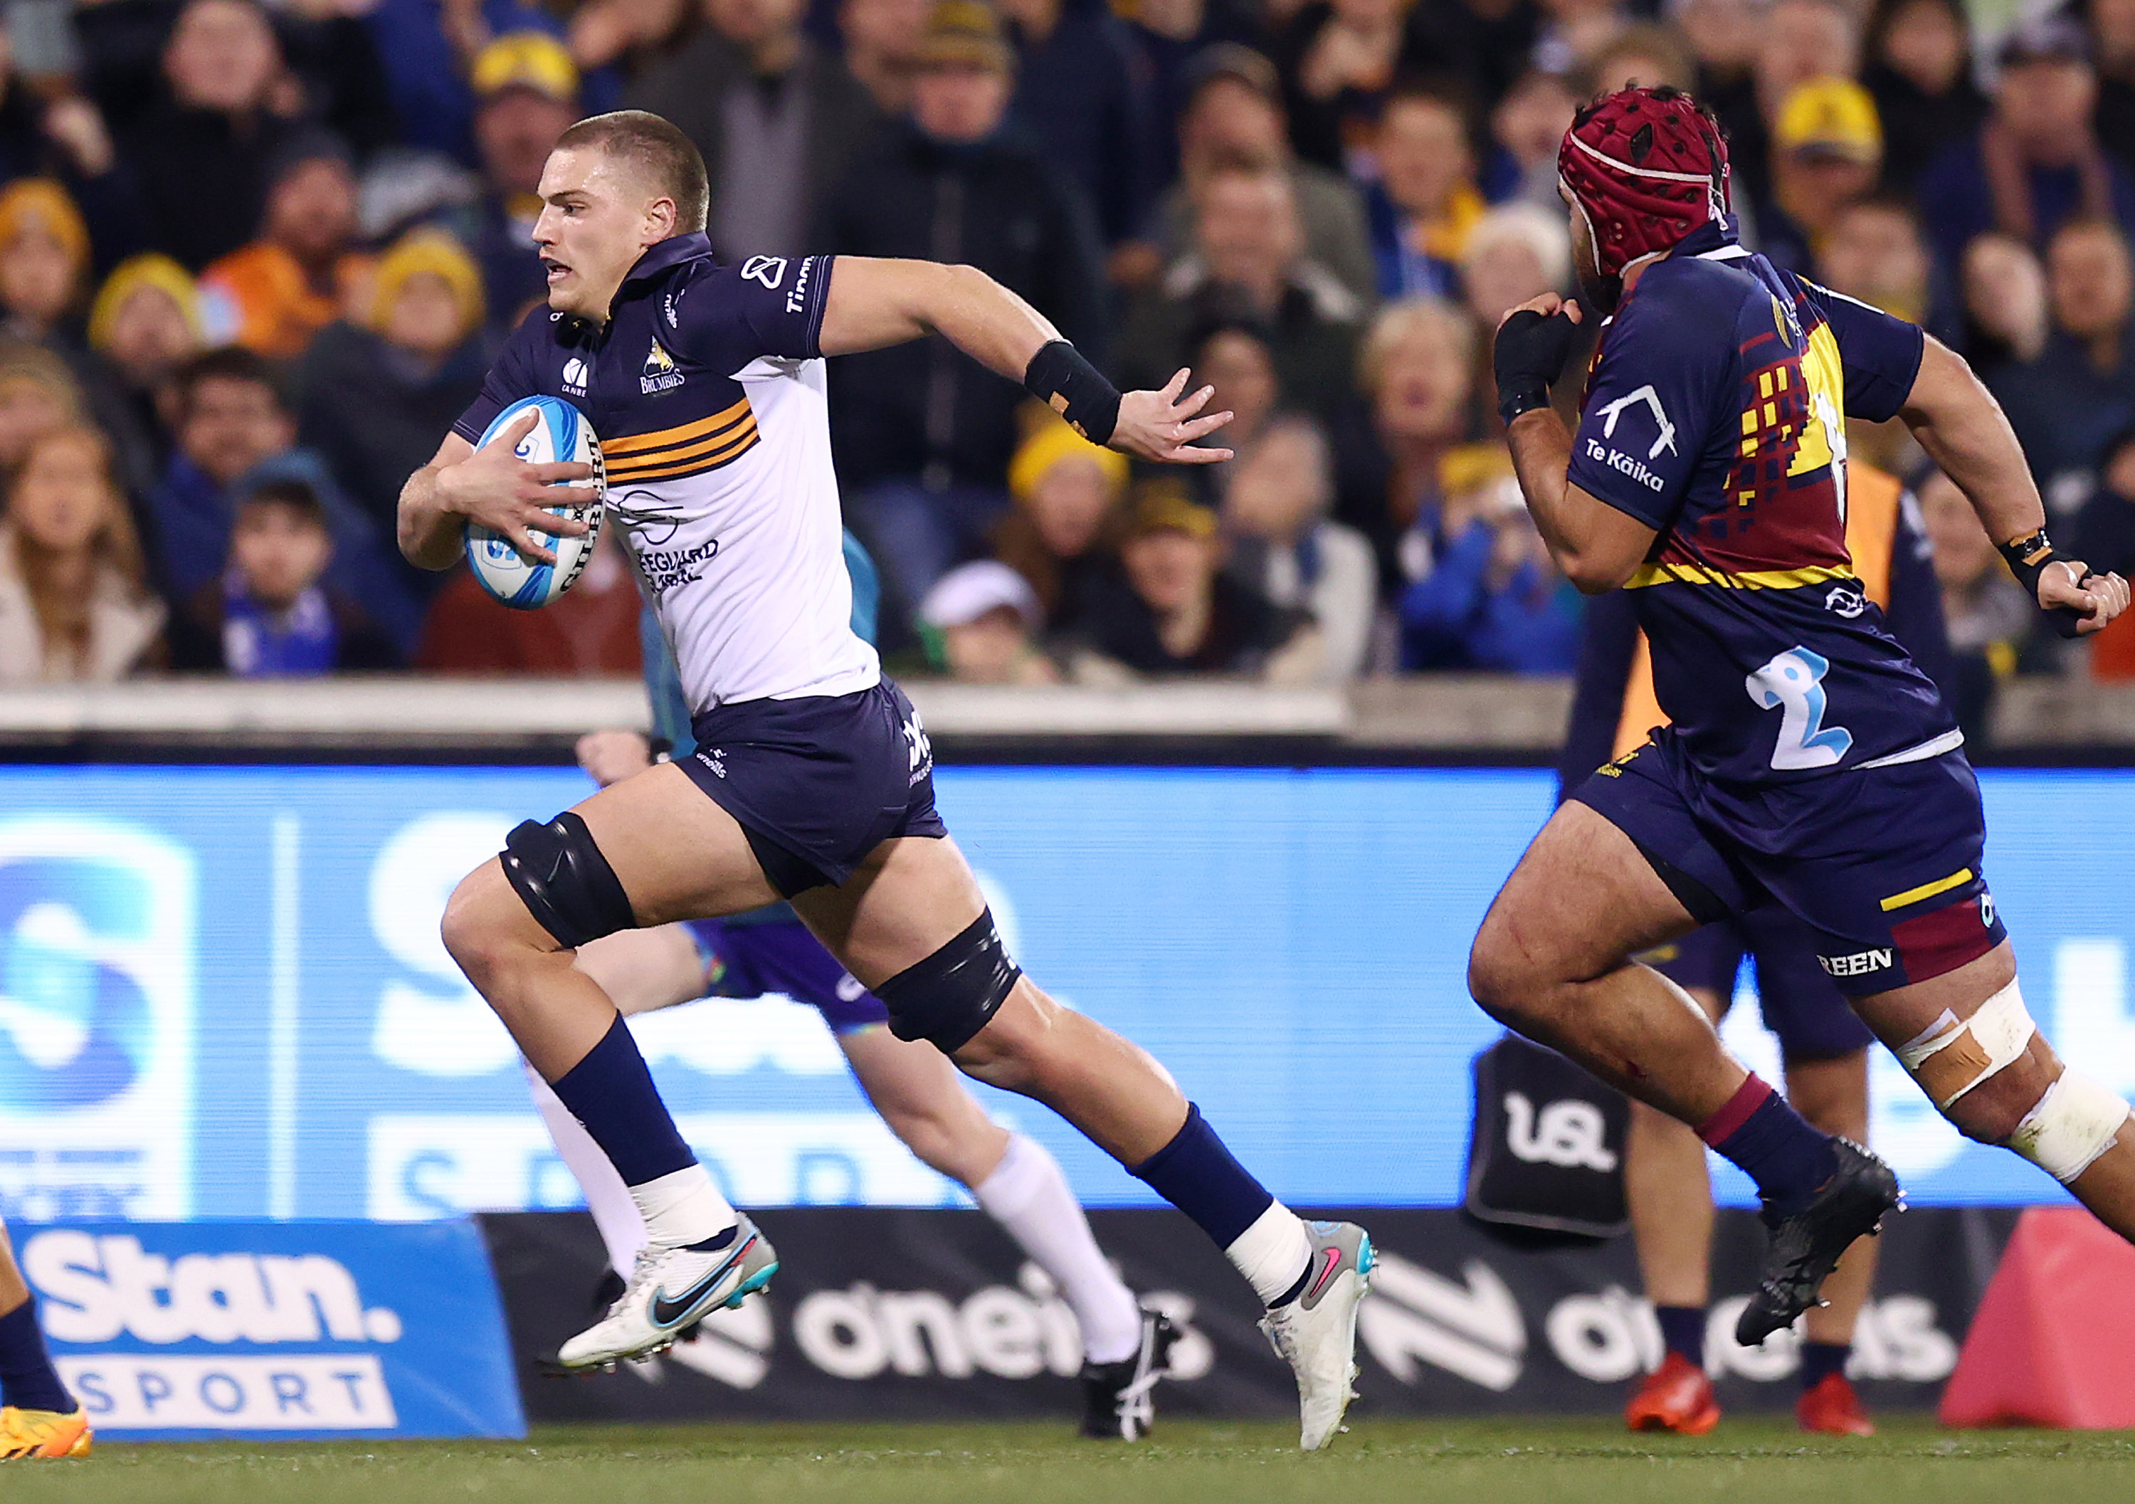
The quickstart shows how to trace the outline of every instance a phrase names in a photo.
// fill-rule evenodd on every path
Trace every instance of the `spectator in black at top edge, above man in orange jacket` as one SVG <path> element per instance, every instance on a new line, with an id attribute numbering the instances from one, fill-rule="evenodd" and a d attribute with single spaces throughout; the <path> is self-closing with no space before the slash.
<path id="1" fill-rule="evenodd" d="M 162 79 L 120 139 L 149 244 L 199 271 L 243 246 L 297 130 L 282 47 L 254 0 L 186 0 Z"/>

